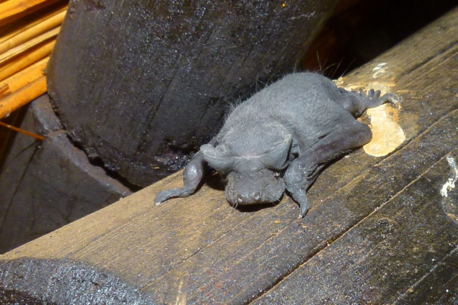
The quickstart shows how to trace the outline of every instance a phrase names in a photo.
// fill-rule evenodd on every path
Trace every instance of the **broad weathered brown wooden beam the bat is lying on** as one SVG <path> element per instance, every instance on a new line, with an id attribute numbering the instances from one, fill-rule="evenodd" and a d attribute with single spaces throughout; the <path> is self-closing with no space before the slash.
<path id="1" fill-rule="evenodd" d="M 115 304 L 115 293 L 132 304 L 451 303 L 458 191 L 440 191 L 458 159 L 457 70 L 455 9 L 341 79 L 402 97 L 406 141 L 327 168 L 303 220 L 288 197 L 231 207 L 217 176 L 154 206 L 179 172 L 2 255 L 0 290 L 56 304 Z"/>

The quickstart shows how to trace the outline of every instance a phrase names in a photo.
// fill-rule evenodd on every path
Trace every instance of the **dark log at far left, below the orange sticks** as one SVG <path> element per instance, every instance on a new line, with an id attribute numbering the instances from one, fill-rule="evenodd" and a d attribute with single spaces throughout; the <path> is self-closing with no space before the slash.
<path id="1" fill-rule="evenodd" d="M 68 139 L 47 96 L 31 104 L 0 170 L 0 253 L 90 214 L 131 192 Z"/>

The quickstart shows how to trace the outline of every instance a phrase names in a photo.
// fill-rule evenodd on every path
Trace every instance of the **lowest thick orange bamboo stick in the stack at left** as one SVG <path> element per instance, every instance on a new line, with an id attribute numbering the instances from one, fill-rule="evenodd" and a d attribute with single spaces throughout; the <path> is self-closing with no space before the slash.
<path id="1" fill-rule="evenodd" d="M 26 85 L 15 93 L 0 100 L 0 118 L 10 115 L 11 112 L 28 102 L 46 93 L 46 77 Z"/>

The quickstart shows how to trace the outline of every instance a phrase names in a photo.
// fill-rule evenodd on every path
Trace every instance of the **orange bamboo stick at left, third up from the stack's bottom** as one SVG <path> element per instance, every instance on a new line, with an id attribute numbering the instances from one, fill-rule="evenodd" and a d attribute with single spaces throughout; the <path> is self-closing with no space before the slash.
<path id="1" fill-rule="evenodd" d="M 0 81 L 3 81 L 5 78 L 17 73 L 25 67 L 32 65 L 43 57 L 48 56 L 51 53 L 54 44 L 55 39 L 52 39 L 33 51 L 20 54 L 17 58 L 15 58 L 15 60 L 11 60 L 5 65 L 0 65 Z"/>

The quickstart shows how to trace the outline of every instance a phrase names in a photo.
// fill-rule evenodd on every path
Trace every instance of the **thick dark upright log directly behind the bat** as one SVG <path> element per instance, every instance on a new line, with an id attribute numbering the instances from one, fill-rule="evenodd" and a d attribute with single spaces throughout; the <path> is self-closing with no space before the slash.
<path id="1" fill-rule="evenodd" d="M 292 72 L 335 3 L 74 1 L 48 92 L 91 158 L 147 186 L 215 135 L 230 103 Z"/>

